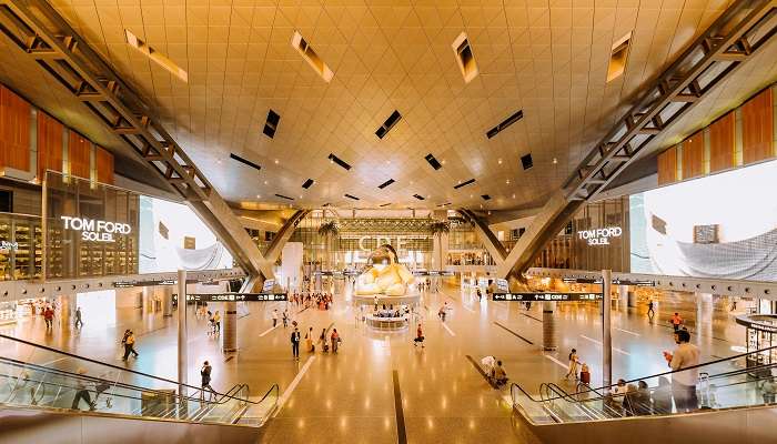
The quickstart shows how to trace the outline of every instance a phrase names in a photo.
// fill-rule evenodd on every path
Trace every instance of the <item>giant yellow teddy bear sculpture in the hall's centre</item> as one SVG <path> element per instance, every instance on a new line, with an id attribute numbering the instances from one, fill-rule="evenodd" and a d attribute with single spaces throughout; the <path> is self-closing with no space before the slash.
<path id="1" fill-rule="evenodd" d="M 398 263 L 391 245 L 382 245 L 370 255 L 372 266 L 356 279 L 357 295 L 404 296 L 415 278 Z"/>

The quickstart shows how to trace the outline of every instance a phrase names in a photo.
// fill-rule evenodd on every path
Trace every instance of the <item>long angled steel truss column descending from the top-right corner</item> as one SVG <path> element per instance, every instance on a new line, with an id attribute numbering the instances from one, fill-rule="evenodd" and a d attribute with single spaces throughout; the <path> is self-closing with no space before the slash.
<path id="1" fill-rule="evenodd" d="M 591 150 L 509 252 L 498 275 L 525 272 L 575 211 L 758 52 L 777 32 L 774 0 L 736 0 L 657 78 Z"/>

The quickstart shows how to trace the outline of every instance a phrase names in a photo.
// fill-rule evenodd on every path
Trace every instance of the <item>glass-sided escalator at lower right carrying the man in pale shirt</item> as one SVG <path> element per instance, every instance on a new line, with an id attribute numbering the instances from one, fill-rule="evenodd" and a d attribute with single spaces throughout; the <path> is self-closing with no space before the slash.
<path id="1" fill-rule="evenodd" d="M 777 442 L 774 372 L 777 346 L 712 361 L 699 372 L 698 408 L 678 411 L 665 372 L 617 385 L 543 383 L 536 394 L 511 385 L 517 430 L 529 443 Z M 755 363 L 755 364 L 754 364 Z M 687 371 L 685 369 L 684 371 Z M 625 390 L 625 393 L 624 393 Z"/>

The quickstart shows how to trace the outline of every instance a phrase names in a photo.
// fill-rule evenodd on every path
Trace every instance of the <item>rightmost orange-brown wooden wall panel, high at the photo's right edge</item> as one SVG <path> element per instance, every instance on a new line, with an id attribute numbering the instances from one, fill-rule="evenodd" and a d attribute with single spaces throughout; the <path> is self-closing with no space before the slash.
<path id="1" fill-rule="evenodd" d="M 774 155 L 774 120 L 771 88 L 741 107 L 741 151 L 745 164 Z"/>

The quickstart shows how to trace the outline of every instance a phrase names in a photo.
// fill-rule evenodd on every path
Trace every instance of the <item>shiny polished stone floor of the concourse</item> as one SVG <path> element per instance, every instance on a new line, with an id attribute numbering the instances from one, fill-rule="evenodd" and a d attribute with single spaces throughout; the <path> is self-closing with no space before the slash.
<path id="1" fill-rule="evenodd" d="M 451 312 L 445 323 L 436 316 L 447 302 Z M 212 304 L 220 310 L 219 304 Z M 568 303 L 557 310 L 559 349 L 545 353 L 542 344 L 539 304 L 525 310 L 509 302 L 478 302 L 468 291 L 446 286 L 442 292 L 423 295 L 426 347 L 416 349 L 414 329 L 395 333 L 374 331 L 356 321 L 350 291 L 335 299 L 330 311 L 289 306 L 304 333 L 309 326 L 317 334 L 336 327 L 343 337 L 336 355 L 302 352 L 292 360 L 291 327 L 271 329 L 270 313 L 283 303 L 253 303 L 241 309 L 238 353 L 221 352 L 219 337 L 206 334 L 206 322 L 195 320 L 190 309 L 189 381 L 199 382 L 200 364 L 213 364 L 213 386 L 226 391 L 248 383 L 252 396 L 261 396 L 279 384 L 282 408 L 263 428 L 268 443 L 395 443 L 397 408 L 402 400 L 407 442 L 467 443 L 522 442 L 512 418 L 507 391 L 496 391 L 485 382 L 471 362 L 485 355 L 502 361 L 511 380 L 536 392 L 545 381 L 562 381 L 566 355 L 576 347 L 582 361 L 592 367 L 593 383 L 602 379 L 601 322 L 598 306 Z M 679 312 L 686 319 L 703 352 L 703 361 L 734 355 L 745 343 L 744 329 L 736 325 L 726 300 L 716 301 L 703 322 L 696 321 L 696 302 L 689 295 L 667 294 L 658 303 L 658 313 L 649 320 L 646 306 L 613 312 L 613 377 L 634 379 L 666 371 L 662 352 L 674 346 L 668 319 Z M 741 310 L 741 307 L 740 307 Z M 176 379 L 176 320 L 160 313 L 121 309 L 110 325 L 90 317 L 84 309 L 81 330 L 59 323 L 47 332 L 43 320 L 26 317 L 3 334 L 69 351 L 74 354 L 127 365 L 154 375 Z M 138 335 L 140 356 L 121 361 L 119 342 L 124 329 Z M 75 370 L 81 363 L 52 353 L 31 352 L 29 347 L 0 341 L 0 354 L 27 362 Z M 569 389 L 573 389 L 569 386 Z"/>

